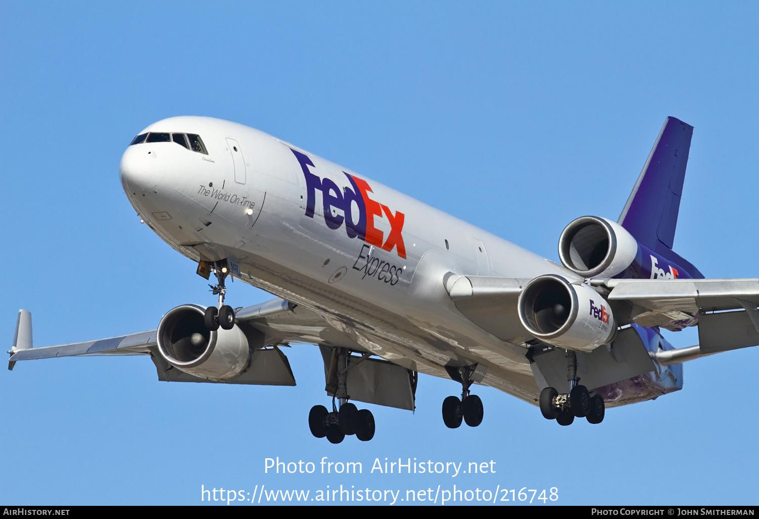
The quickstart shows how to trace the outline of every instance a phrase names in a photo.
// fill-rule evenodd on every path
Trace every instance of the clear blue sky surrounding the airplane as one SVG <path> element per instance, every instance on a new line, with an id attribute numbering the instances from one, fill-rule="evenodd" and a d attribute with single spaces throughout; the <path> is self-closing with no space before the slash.
<path id="1" fill-rule="evenodd" d="M 43 346 L 153 329 L 170 308 L 212 299 L 195 264 L 140 225 L 118 181 L 131 138 L 173 115 L 257 127 L 551 259 L 572 219 L 617 218 L 673 115 L 695 127 L 676 251 L 707 277 L 759 276 L 755 5 L 2 8 L 8 347 L 19 308 Z M 236 282 L 228 301 L 268 297 Z M 668 338 L 698 342 L 693 330 Z M 317 348 L 285 353 L 294 388 L 159 382 L 146 357 L 0 370 L 0 503 L 194 505 L 201 485 L 401 499 L 454 484 L 556 487 L 559 504 L 756 501 L 756 348 L 687 363 L 681 392 L 609 410 L 600 426 L 561 427 L 477 388 L 482 425 L 446 429 L 440 404 L 460 389 L 422 376 L 414 414 L 372 406 L 375 439 L 340 445 L 307 429 L 310 407 L 329 404 Z M 363 473 L 264 473 L 277 456 L 361 461 Z M 496 473 L 370 473 L 375 458 L 493 460 Z"/>

